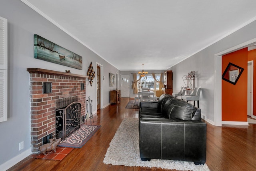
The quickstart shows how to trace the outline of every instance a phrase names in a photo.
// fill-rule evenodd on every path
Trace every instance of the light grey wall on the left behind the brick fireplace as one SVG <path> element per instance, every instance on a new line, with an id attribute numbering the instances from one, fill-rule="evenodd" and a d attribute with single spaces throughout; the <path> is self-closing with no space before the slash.
<path id="1" fill-rule="evenodd" d="M 103 106 L 109 104 L 108 74 L 119 73 L 115 67 L 97 56 L 94 52 L 68 36 L 40 14 L 19 0 L 2 0 L 0 16 L 8 19 L 8 121 L 0 123 L 0 168 L 7 169 L 30 151 L 30 75 L 26 68 L 43 68 L 73 74 L 86 75 L 92 62 L 103 66 Z M 82 56 L 83 70 L 62 66 L 34 58 L 34 34 L 54 42 Z M 96 79 L 90 86 L 86 82 L 86 99 L 94 101 L 96 111 Z M 18 144 L 24 141 L 24 149 L 18 151 Z M 1 170 L 0 169 L 0 170 Z"/>

